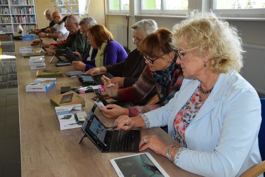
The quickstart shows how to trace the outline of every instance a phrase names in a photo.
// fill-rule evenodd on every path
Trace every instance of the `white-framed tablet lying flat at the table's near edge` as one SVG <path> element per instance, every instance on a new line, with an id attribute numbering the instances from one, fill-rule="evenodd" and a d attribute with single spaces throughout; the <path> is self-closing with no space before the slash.
<path id="1" fill-rule="evenodd" d="M 110 163 L 118 176 L 122 177 L 169 177 L 165 170 L 148 152 L 114 158 L 110 160 Z"/>

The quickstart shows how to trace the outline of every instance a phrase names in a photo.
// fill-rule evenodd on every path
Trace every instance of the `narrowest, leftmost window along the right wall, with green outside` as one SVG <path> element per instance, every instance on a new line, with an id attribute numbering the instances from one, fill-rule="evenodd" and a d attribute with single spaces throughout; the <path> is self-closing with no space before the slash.
<path id="1" fill-rule="evenodd" d="M 129 12 L 129 0 L 109 0 L 109 12 Z"/>

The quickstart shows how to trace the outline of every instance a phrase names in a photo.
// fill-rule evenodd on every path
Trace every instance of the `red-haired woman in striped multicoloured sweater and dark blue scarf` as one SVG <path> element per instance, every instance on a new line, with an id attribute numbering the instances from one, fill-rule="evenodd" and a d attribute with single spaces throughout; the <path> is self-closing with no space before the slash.
<path id="1" fill-rule="evenodd" d="M 161 28 L 142 41 L 140 51 L 145 59 L 146 67 L 132 87 L 119 89 L 118 84 L 112 84 L 110 79 L 105 76 L 101 78 L 105 91 L 109 96 L 115 100 L 129 100 L 132 103 L 145 98 L 156 86 L 160 104 L 131 108 L 108 104 L 106 108 L 111 109 L 100 108 L 106 118 L 117 118 L 121 115 L 134 117 L 149 112 L 167 104 L 174 94 L 179 91 L 184 76 L 180 65 L 176 64 L 177 56 L 170 45 L 171 34 L 170 30 Z"/>

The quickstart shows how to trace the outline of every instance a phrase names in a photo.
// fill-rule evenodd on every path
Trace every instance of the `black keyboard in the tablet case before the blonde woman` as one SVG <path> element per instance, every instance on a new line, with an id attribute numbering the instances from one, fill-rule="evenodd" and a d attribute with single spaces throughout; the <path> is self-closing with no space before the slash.
<path id="1" fill-rule="evenodd" d="M 114 131 L 113 136 L 117 136 L 117 143 L 115 150 L 128 151 L 134 149 L 134 130 Z"/>

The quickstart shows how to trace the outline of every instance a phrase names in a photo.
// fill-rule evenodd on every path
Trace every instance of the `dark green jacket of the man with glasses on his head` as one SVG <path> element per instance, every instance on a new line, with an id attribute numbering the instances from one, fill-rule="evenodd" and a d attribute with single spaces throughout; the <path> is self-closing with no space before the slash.
<path id="1" fill-rule="evenodd" d="M 77 36 L 70 34 L 65 43 L 55 46 L 58 47 L 58 49 L 55 49 L 57 55 L 62 55 L 66 47 L 69 47 L 73 52 L 79 52 L 82 58 L 86 59 L 88 57 L 89 43 L 80 33 L 80 30 L 78 31 Z"/>

